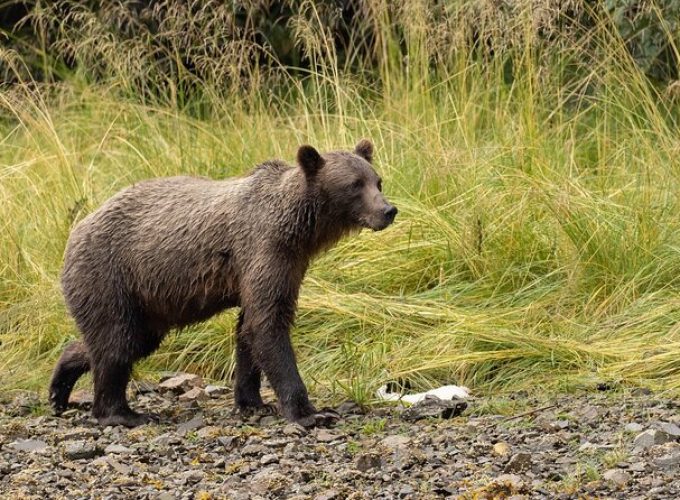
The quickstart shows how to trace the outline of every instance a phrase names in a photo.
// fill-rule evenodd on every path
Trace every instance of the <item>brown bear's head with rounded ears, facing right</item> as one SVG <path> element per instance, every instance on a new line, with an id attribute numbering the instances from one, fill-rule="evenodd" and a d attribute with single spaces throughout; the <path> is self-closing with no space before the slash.
<path id="1" fill-rule="evenodd" d="M 382 181 L 373 169 L 373 145 L 360 141 L 354 151 L 323 155 L 301 146 L 297 161 L 307 183 L 318 190 L 325 210 L 350 227 L 380 231 L 392 224 L 397 208 L 382 194 Z"/>

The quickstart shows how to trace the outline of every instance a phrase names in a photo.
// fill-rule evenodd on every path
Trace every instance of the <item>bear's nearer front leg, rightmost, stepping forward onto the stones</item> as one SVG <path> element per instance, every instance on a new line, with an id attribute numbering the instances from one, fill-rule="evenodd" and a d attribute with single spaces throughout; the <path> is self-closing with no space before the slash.
<path id="1" fill-rule="evenodd" d="M 274 388 L 283 417 L 304 427 L 334 424 L 339 415 L 314 408 L 297 369 L 290 341 L 295 298 L 258 300 L 246 305 L 244 312 L 243 330 L 250 339 L 251 354 Z"/>

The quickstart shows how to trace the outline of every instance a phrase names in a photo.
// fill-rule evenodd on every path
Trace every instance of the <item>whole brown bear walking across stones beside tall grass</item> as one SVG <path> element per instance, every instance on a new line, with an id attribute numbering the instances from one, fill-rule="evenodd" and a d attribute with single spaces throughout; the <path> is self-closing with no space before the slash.
<path id="1" fill-rule="evenodd" d="M 238 409 L 272 410 L 260 397 L 264 372 L 286 419 L 332 423 L 337 414 L 309 401 L 289 333 L 310 260 L 353 230 L 386 228 L 397 214 L 372 157 L 368 140 L 323 155 L 301 146 L 299 168 L 269 161 L 235 179 L 144 181 L 86 217 L 69 237 L 61 280 L 82 342 L 68 345 L 54 370 L 55 413 L 92 370 L 100 424 L 148 422 L 151 415 L 127 403 L 133 363 L 170 329 L 239 306 Z"/>

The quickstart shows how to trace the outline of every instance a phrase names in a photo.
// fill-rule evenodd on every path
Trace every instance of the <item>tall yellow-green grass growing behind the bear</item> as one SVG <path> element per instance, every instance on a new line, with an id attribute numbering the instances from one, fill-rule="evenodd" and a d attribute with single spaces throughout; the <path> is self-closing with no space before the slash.
<path id="1" fill-rule="evenodd" d="M 3 53 L 23 78 L 0 93 L 3 389 L 44 387 L 77 336 L 58 284 L 63 250 L 108 197 L 144 178 L 224 178 L 292 160 L 301 143 L 364 136 L 400 215 L 308 273 L 293 336 L 317 394 L 365 401 L 396 377 L 478 391 L 680 389 L 677 108 L 609 20 L 587 36 L 556 28 L 546 44 L 536 16 L 548 14 L 531 2 L 502 24 L 479 7 L 435 18 L 425 2 L 369 2 L 375 53 L 341 60 L 314 5 L 294 19 L 309 71 L 274 56 L 265 69 L 241 41 L 220 57 L 204 46 L 201 76 L 176 61 L 167 78 L 148 40 L 123 43 L 85 11 L 55 42 L 77 63 L 61 83 L 32 82 Z M 503 47 L 471 45 L 463 14 Z M 169 28 L 177 43 L 205 22 L 192 15 Z M 228 381 L 234 320 L 172 333 L 140 370 Z"/>

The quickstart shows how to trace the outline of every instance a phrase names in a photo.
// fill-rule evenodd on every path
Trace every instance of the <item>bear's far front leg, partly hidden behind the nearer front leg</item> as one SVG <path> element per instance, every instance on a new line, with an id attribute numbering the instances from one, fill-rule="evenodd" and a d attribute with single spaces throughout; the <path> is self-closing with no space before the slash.
<path id="1" fill-rule="evenodd" d="M 274 415 L 277 413 L 276 406 L 262 401 L 261 380 L 262 370 L 255 363 L 248 339 L 243 335 L 243 312 L 241 312 L 236 327 L 236 384 L 234 389 L 236 407 L 241 415 Z"/>

